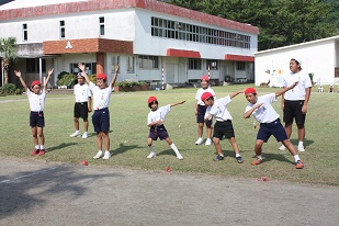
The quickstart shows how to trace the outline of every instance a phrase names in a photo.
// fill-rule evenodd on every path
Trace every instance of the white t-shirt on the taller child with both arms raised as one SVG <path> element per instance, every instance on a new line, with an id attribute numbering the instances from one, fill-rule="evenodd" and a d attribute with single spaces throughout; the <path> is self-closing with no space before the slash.
<path id="1" fill-rule="evenodd" d="M 93 93 L 93 109 L 100 110 L 109 108 L 110 97 L 112 94 L 112 86 L 109 86 L 105 89 L 100 89 L 93 82 L 90 81 L 89 88 Z"/>

